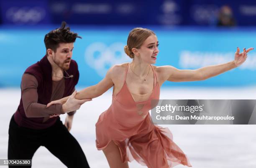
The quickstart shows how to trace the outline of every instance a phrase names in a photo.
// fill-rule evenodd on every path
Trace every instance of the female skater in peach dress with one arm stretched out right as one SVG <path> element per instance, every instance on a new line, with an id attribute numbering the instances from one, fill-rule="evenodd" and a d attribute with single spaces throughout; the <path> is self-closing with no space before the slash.
<path id="1" fill-rule="evenodd" d="M 148 168 L 191 167 L 187 156 L 172 141 L 172 133 L 151 122 L 151 100 L 159 99 L 164 81 L 200 81 L 240 66 L 248 50 L 235 53 L 234 61 L 196 70 L 179 70 L 172 66 L 153 66 L 159 53 L 156 34 L 146 28 L 134 28 L 124 47 L 131 63 L 111 67 L 98 84 L 72 96 L 48 104 L 63 104 L 64 112 L 74 111 L 74 99 L 92 99 L 113 88 L 112 104 L 96 123 L 96 146 L 103 150 L 110 168 L 128 168 L 137 160 Z M 73 104 L 74 106 L 74 104 Z"/>

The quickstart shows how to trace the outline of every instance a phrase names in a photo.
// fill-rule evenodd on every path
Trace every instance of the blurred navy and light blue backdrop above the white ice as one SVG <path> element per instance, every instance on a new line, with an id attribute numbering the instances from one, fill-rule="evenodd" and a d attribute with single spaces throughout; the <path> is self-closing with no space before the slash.
<path id="1" fill-rule="evenodd" d="M 46 53 L 44 35 L 65 20 L 83 37 L 75 43 L 79 86 L 97 83 L 109 67 L 131 61 L 123 51 L 132 28 L 159 39 L 157 66 L 196 69 L 233 60 L 236 47 L 254 47 L 254 0 L 0 0 L 0 87 L 19 87 L 26 67 Z M 256 53 L 241 67 L 199 82 L 164 86 L 253 86 Z M 87 80 L 90 79 L 90 80 Z"/>

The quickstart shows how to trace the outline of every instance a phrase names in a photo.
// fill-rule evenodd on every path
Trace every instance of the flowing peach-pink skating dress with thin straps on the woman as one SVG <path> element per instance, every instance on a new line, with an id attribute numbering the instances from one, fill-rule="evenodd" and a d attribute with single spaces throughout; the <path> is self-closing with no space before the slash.
<path id="1" fill-rule="evenodd" d="M 148 168 L 172 168 L 182 164 L 191 167 L 187 156 L 172 141 L 168 128 L 154 125 L 149 110 L 151 100 L 159 99 L 160 87 L 154 72 L 154 89 L 146 101 L 135 102 L 126 84 L 112 97 L 111 106 L 96 123 L 96 146 L 102 150 L 111 140 L 118 145 L 123 162 L 135 159 Z"/>

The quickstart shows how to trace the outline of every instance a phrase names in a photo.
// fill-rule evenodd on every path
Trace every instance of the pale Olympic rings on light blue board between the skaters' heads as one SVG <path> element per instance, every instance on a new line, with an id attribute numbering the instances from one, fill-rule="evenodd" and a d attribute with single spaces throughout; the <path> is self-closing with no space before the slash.
<path id="1" fill-rule="evenodd" d="M 100 42 L 92 43 L 85 50 L 85 62 L 104 77 L 111 66 L 131 61 L 124 52 L 124 46 L 123 43 L 113 43 L 110 46 Z"/>

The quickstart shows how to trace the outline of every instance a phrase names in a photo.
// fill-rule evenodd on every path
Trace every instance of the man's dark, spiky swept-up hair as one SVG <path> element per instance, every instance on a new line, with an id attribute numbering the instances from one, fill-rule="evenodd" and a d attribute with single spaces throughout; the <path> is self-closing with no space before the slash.
<path id="1" fill-rule="evenodd" d="M 59 43 L 74 43 L 76 38 L 82 38 L 77 33 L 70 31 L 70 28 L 66 27 L 66 25 L 67 23 L 63 21 L 60 28 L 56 28 L 44 36 L 46 50 L 50 48 L 56 52 Z"/>

